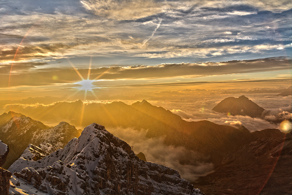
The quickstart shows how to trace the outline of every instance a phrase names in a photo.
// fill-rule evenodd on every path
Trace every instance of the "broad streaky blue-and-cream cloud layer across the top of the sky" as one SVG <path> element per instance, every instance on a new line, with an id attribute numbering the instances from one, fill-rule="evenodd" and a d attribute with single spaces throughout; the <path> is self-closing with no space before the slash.
<path id="1" fill-rule="evenodd" d="M 2 1 L 0 5 L 3 62 L 13 60 L 20 42 L 18 61 L 123 55 L 133 63 L 136 58 L 284 56 L 292 47 L 288 0 Z"/>

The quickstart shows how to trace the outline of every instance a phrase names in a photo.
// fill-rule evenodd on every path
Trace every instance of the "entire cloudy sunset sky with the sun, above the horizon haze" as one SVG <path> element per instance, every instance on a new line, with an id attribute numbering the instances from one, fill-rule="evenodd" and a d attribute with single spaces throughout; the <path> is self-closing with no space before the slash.
<path id="1" fill-rule="evenodd" d="M 1 0 L 0 15 L 1 99 L 291 86 L 289 0 Z"/>

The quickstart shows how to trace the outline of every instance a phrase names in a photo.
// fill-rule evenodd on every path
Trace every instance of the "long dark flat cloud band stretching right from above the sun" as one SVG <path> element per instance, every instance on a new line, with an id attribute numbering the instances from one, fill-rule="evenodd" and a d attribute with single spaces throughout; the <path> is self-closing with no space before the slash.
<path id="1" fill-rule="evenodd" d="M 226 61 L 220 63 L 180 63 L 180 64 L 160 64 L 156 66 L 129 66 L 100 68 L 91 70 L 93 76 L 98 76 L 100 80 L 112 79 L 157 79 L 171 77 L 203 77 L 212 75 L 226 75 L 235 73 L 256 73 L 274 70 L 289 70 L 291 60 L 285 58 L 265 58 L 243 61 Z"/>

